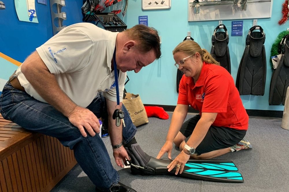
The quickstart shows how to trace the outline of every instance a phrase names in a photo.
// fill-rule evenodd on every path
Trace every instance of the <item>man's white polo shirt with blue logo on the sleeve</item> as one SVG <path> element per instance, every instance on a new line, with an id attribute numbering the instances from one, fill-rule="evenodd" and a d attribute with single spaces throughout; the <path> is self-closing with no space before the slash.
<path id="1" fill-rule="evenodd" d="M 36 49 L 54 74 L 60 88 L 75 102 L 87 107 L 98 92 L 116 101 L 114 71 L 111 60 L 118 32 L 109 32 L 91 23 L 77 23 L 65 27 Z M 18 80 L 35 99 L 46 102 L 17 69 Z M 122 101 L 126 73 L 119 71 L 119 98 Z M 45 83 L 45 82 L 44 82 Z"/>

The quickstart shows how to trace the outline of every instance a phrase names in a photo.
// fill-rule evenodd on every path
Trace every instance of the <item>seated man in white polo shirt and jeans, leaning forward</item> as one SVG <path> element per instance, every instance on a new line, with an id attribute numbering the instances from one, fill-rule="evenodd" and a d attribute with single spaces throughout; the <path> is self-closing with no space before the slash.
<path id="1" fill-rule="evenodd" d="M 97 191 L 133 192 L 118 182 L 119 175 L 97 134 L 98 118 L 107 108 L 118 166 L 123 167 L 125 158 L 130 160 L 127 150 L 138 157 L 139 164 L 149 160 L 134 138 L 136 127 L 121 101 L 126 71 L 138 73 L 160 55 L 160 39 L 153 28 L 136 25 L 118 33 L 90 23 L 70 25 L 38 47 L 10 77 L 0 96 L 0 112 L 5 119 L 56 137 L 73 149 Z M 125 116 L 125 129 L 112 118 L 116 108 Z"/>

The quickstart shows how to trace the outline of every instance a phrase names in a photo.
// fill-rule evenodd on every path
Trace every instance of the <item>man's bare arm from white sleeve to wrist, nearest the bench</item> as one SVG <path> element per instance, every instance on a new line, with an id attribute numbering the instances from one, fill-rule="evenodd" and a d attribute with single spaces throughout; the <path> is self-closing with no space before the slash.
<path id="1" fill-rule="evenodd" d="M 35 64 L 36 62 L 38 63 Z M 36 66 L 32 67 L 34 64 Z M 37 93 L 66 117 L 77 106 L 61 90 L 55 76 L 49 72 L 37 52 L 32 53 L 25 60 L 21 66 L 21 71 Z"/>

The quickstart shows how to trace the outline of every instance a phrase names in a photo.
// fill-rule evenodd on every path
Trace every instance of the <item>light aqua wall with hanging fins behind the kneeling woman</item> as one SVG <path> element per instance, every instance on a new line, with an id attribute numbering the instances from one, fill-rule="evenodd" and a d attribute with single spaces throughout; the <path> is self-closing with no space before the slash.
<path id="1" fill-rule="evenodd" d="M 127 12 L 128 27 L 138 24 L 138 16 L 147 15 L 149 26 L 155 27 L 162 37 L 162 57 L 138 74 L 128 72 L 131 79 L 127 85 L 128 92 L 139 93 L 144 104 L 176 105 L 176 73 L 172 51 L 187 35 L 192 32 L 194 40 L 204 49 L 211 50 L 211 38 L 218 21 L 188 22 L 188 1 L 172 0 L 170 10 L 142 11 L 141 1 L 129 1 Z M 272 70 L 269 57 L 272 43 L 277 35 L 289 27 L 289 21 L 282 26 L 277 22 L 281 18 L 281 8 L 284 1 L 273 1 L 273 14 L 268 19 L 258 19 L 266 33 L 265 49 L 267 60 L 267 78 L 264 96 L 242 95 L 246 109 L 284 110 L 284 106 L 269 106 L 269 86 Z M 236 81 L 238 66 L 245 48 L 245 38 L 253 19 L 244 20 L 243 36 L 231 37 L 231 21 L 223 20 L 229 31 L 229 50 L 231 56 L 231 74 Z M 235 21 L 235 20 L 234 20 Z"/>

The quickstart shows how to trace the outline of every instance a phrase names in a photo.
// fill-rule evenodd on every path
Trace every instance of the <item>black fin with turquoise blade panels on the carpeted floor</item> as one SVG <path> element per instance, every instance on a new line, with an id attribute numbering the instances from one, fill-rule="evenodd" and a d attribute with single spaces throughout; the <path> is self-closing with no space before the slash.
<path id="1" fill-rule="evenodd" d="M 175 175 L 175 169 L 168 172 L 166 168 L 172 160 L 156 159 L 151 157 L 144 167 L 130 164 L 131 173 L 134 175 Z M 241 173 L 237 171 L 235 164 L 227 160 L 189 160 L 181 174 L 175 175 L 184 178 L 214 181 L 214 182 L 244 182 Z M 227 171 L 230 170 L 230 171 Z"/>

